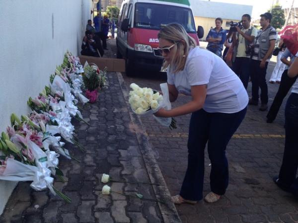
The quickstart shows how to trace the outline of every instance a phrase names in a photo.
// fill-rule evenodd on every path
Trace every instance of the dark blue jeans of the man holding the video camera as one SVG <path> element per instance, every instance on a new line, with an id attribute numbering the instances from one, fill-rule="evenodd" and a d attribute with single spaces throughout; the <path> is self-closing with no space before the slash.
<path id="1" fill-rule="evenodd" d="M 245 89 L 247 89 L 250 75 L 250 58 L 236 57 L 233 63 L 233 72 L 239 76 Z"/>

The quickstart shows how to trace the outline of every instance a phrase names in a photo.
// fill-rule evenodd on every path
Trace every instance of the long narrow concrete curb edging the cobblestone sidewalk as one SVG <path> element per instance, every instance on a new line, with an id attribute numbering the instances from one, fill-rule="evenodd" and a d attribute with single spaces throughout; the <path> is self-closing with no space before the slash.
<path id="1" fill-rule="evenodd" d="M 131 121 L 138 129 L 138 131 L 136 131 L 136 136 L 140 145 L 140 150 L 143 155 L 144 163 L 146 165 L 146 169 L 147 169 L 150 181 L 152 183 L 159 184 L 159 186 L 152 185 L 155 196 L 159 200 L 166 201 L 165 204 L 158 203 L 162 220 L 164 223 L 182 223 L 177 213 L 175 205 L 171 202 L 170 192 L 166 186 L 166 183 L 163 179 L 159 166 L 153 155 L 153 151 L 148 141 L 148 138 L 147 138 L 148 136 L 142 124 L 141 118 L 140 116 L 133 113 L 130 109 L 130 105 L 128 103 L 129 90 L 125 85 L 122 74 L 119 72 L 116 72 L 116 74 L 117 74 L 118 81 L 120 83 L 123 97 L 125 98 L 126 105 L 128 107 L 128 112 L 129 112 Z"/>

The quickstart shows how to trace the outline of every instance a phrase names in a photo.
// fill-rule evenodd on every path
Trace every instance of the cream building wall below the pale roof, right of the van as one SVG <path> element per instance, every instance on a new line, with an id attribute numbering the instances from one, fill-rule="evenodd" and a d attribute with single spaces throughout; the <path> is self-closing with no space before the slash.
<path id="1" fill-rule="evenodd" d="M 230 21 L 233 22 L 238 22 L 239 20 L 232 20 L 232 19 L 223 19 L 223 29 L 229 29 L 229 25 L 228 24 Z M 202 38 L 202 40 L 206 40 L 207 34 L 210 30 L 211 27 L 215 27 L 215 18 L 206 18 L 206 17 L 199 17 L 199 16 L 195 16 L 195 24 L 196 27 L 203 26 L 204 28 L 204 37 Z"/>

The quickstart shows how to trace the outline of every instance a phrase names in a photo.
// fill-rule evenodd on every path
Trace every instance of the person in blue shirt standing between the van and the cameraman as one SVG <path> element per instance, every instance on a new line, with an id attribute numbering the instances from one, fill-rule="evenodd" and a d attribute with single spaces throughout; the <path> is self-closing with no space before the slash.
<path id="1" fill-rule="evenodd" d="M 226 30 L 222 28 L 223 19 L 216 18 L 214 29 L 210 29 L 206 40 L 209 42 L 207 50 L 222 57 L 222 51 L 224 49 L 224 41 L 226 39 Z"/>

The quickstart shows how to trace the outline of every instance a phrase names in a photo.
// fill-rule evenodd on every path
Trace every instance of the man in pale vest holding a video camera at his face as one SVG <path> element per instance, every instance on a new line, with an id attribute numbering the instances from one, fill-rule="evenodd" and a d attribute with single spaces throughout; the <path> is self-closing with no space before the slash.
<path id="1" fill-rule="evenodd" d="M 242 15 L 241 22 L 231 24 L 231 28 L 237 31 L 237 42 L 233 51 L 233 71 L 239 76 L 245 89 L 250 75 L 250 44 L 257 36 L 258 30 L 250 25 L 250 15 Z"/>

